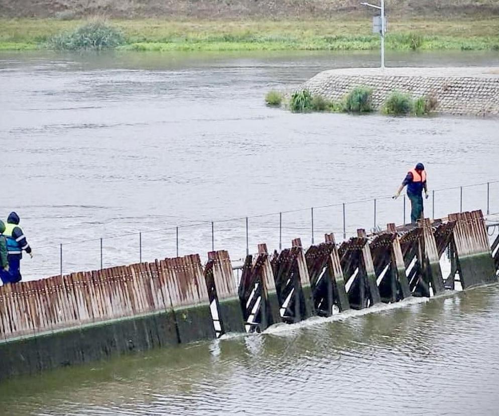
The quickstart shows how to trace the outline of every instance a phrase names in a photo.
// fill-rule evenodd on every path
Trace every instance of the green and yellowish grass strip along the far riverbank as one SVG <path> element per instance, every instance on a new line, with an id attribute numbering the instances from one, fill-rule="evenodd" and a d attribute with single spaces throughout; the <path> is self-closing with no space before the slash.
<path id="1" fill-rule="evenodd" d="M 87 20 L 0 19 L 0 50 L 46 49 L 49 40 Z M 137 51 L 371 50 L 379 36 L 362 20 L 168 21 L 119 20 L 125 43 Z M 387 49 L 499 50 L 499 17 L 400 20 L 389 23 Z"/>

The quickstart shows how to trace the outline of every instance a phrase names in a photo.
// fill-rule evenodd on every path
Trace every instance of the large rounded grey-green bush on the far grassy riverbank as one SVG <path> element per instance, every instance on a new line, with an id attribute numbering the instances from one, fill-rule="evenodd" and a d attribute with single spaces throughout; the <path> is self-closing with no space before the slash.
<path id="1" fill-rule="evenodd" d="M 104 22 L 91 22 L 72 32 L 64 32 L 49 41 L 55 50 L 79 51 L 112 49 L 125 42 L 122 32 Z"/>

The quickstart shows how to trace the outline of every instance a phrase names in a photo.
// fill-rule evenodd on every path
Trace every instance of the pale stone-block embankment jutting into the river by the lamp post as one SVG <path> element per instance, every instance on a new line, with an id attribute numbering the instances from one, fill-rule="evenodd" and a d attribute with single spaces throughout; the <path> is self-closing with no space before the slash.
<path id="1" fill-rule="evenodd" d="M 379 109 L 393 91 L 432 96 L 438 113 L 499 115 L 499 68 L 348 68 L 320 72 L 304 84 L 313 94 L 342 99 L 355 86 L 373 88 Z"/>

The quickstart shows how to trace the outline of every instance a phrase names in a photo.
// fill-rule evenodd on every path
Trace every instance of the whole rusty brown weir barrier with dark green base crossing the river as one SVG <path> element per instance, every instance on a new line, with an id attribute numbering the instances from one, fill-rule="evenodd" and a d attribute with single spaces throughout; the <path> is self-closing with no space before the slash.
<path id="1" fill-rule="evenodd" d="M 447 252 L 444 279 L 439 260 Z M 411 296 L 497 281 L 499 236 L 489 245 L 481 211 L 389 224 L 306 251 L 260 244 L 239 287 L 227 251 L 77 272 L 0 288 L 0 379 L 230 332 L 261 332 Z"/>

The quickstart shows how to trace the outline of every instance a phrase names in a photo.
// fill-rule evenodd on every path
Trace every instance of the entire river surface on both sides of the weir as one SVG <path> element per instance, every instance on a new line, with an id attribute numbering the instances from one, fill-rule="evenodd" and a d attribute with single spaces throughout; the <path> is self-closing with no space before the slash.
<path id="1" fill-rule="evenodd" d="M 499 65 L 497 54 L 390 55 L 392 65 Z M 435 201 L 497 178 L 499 120 L 306 114 L 270 88 L 375 54 L 0 54 L 2 216 L 35 253 L 25 278 L 401 223 L 391 195 L 422 161 Z M 456 186 L 458 186 L 456 188 Z M 453 188 L 441 190 L 443 188 Z M 486 185 L 462 209 L 486 210 Z M 374 201 L 377 198 L 376 220 Z M 319 207 L 323 205 L 333 205 Z M 302 209 L 302 211 L 294 211 Z M 489 187 L 499 211 L 499 184 Z M 255 217 L 260 214 L 266 216 Z M 408 216 L 408 210 L 407 214 Z M 198 225 L 202 222 L 203 224 Z M 152 232 L 151 230 L 161 231 Z M 120 237 L 110 238 L 112 235 Z M 91 240 L 74 243 L 80 240 Z M 0 414 L 497 414 L 499 287 L 448 293 L 65 368 L 0 385 Z M 372 310 L 369 310 L 372 311 Z"/>

